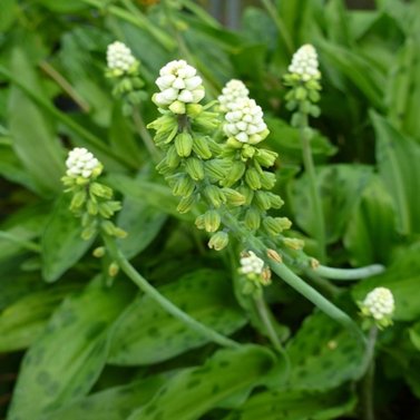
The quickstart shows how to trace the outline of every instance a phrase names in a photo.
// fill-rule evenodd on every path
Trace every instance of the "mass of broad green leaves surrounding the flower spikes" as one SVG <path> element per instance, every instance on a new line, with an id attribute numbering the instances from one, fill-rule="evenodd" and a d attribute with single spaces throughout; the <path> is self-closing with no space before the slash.
<path id="1" fill-rule="evenodd" d="M 388 270 L 350 285 L 307 280 L 354 316 L 354 302 L 369 290 L 392 290 L 395 324 L 378 345 L 375 409 L 381 420 L 420 418 L 419 1 L 1 0 L 0 8 L 3 417 L 11 399 L 9 420 L 157 419 L 159 406 L 168 420 L 361 417 L 353 339 L 274 282 L 265 297 L 293 363 L 283 383 L 284 363 L 264 349 L 265 331 L 238 297 L 240 250 L 206 250 L 111 96 L 105 51 L 118 39 L 141 62 L 146 123 L 157 116 L 149 100 L 156 75 L 172 59 L 197 67 L 207 99 L 232 78 L 246 84 L 264 109 L 266 144 L 280 154 L 283 214 L 315 256 L 282 76 L 302 43 L 316 47 L 323 92 L 312 147 L 329 264 Z M 79 240 L 62 197 L 64 160 L 74 146 L 98 156 L 124 202 L 126 255 L 180 307 L 234 334 L 240 350 L 215 352 L 153 302 L 134 299 L 123 276 L 104 286 L 109 262 Z"/>

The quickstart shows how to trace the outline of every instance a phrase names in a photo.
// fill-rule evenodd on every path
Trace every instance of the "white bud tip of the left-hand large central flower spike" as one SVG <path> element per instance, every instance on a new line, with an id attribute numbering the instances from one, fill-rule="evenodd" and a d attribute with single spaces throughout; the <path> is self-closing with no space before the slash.
<path id="1" fill-rule="evenodd" d="M 205 95 L 203 80 L 197 70 L 185 60 L 174 60 L 159 71 L 156 85 L 160 92 L 154 97 L 160 107 L 168 107 L 176 100 L 184 104 L 198 104 Z"/>

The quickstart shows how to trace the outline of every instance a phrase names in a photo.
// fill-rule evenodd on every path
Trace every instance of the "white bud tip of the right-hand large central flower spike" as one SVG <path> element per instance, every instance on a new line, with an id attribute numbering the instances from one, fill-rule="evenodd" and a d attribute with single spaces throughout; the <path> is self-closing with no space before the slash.
<path id="1" fill-rule="evenodd" d="M 241 143 L 257 144 L 268 135 L 263 110 L 254 99 L 240 98 L 229 105 L 223 130 Z"/>

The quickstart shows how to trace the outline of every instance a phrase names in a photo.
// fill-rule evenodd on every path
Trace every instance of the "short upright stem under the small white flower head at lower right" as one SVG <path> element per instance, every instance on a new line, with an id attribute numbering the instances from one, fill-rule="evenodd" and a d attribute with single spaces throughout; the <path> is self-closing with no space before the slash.
<path id="1" fill-rule="evenodd" d="M 374 404 L 373 404 L 373 390 L 374 390 L 374 345 L 377 343 L 378 328 L 372 326 L 369 332 L 368 345 L 364 356 L 364 365 L 362 369 L 362 374 L 364 378 L 362 380 L 362 408 L 363 408 L 363 419 L 374 420 Z"/>

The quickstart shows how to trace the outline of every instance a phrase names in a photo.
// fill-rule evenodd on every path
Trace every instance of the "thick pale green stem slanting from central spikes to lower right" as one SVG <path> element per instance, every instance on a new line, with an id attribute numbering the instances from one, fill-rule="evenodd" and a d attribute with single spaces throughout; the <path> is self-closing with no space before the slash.
<path id="1" fill-rule="evenodd" d="M 232 233 L 235 234 L 240 241 L 246 244 L 246 246 L 250 246 L 251 250 L 254 251 L 260 257 L 264 258 L 264 261 L 267 261 L 273 272 L 276 273 L 285 283 L 305 296 L 326 315 L 351 331 L 363 345 L 365 344 L 364 335 L 359 325 L 345 312 L 340 310 L 315 289 L 310 286 L 299 275 L 293 273 L 293 271 L 290 270 L 284 263 L 277 263 L 271 258 L 267 260 L 267 247 L 264 245 L 264 243 L 255 237 L 250 231 L 244 228 L 232 214 L 224 212 L 223 223 L 225 226 L 229 227 Z"/>

